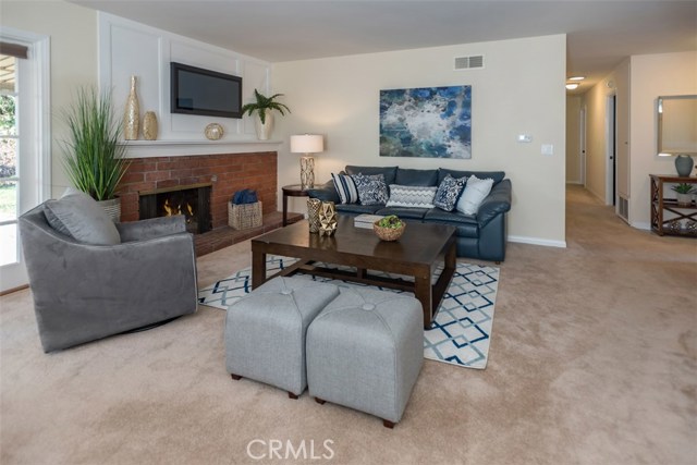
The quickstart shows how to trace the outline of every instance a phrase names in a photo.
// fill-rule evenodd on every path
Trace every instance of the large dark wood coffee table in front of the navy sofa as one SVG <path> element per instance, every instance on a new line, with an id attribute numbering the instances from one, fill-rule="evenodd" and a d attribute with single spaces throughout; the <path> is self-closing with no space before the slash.
<path id="1" fill-rule="evenodd" d="M 330 237 L 310 234 L 307 221 L 301 221 L 252 240 L 253 287 L 273 278 L 266 276 L 267 254 L 299 258 L 273 277 L 302 271 L 413 292 L 421 303 L 424 327 L 428 328 L 455 272 L 455 228 L 409 222 L 399 241 L 384 242 L 372 230 L 355 228 L 352 217 L 339 216 L 339 228 Z M 318 261 L 355 270 L 320 267 L 315 264 Z M 444 268 L 431 285 L 431 277 L 441 262 Z M 369 270 L 413 277 L 414 282 L 376 276 Z"/>

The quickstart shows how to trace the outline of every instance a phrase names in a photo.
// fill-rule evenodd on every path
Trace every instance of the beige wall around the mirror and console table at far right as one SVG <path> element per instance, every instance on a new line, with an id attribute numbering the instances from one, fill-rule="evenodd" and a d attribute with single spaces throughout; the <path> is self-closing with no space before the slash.
<path id="1" fill-rule="evenodd" d="M 697 94 L 697 51 L 632 57 L 631 78 L 629 222 L 648 229 L 649 174 L 676 174 L 673 157 L 657 156 L 657 98 Z"/>

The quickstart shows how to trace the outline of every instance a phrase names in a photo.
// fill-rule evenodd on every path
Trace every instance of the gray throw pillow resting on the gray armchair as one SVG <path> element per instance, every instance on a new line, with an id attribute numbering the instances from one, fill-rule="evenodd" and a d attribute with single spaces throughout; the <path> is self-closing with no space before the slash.
<path id="1" fill-rule="evenodd" d="M 91 245 L 121 244 L 119 230 L 97 201 L 82 192 L 44 204 L 44 215 L 56 231 Z"/>

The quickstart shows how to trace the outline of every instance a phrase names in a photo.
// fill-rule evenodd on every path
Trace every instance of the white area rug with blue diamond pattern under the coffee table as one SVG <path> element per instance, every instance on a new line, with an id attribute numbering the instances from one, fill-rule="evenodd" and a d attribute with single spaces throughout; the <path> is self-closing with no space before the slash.
<path id="1" fill-rule="evenodd" d="M 295 258 L 269 255 L 267 273 L 274 274 L 295 261 Z M 365 285 L 301 273 L 295 276 L 332 282 L 344 287 Z M 486 368 L 498 285 L 499 268 L 457 262 L 436 320 L 430 329 L 424 331 L 424 357 L 466 368 Z M 377 289 L 403 292 L 388 287 Z M 245 268 L 200 290 L 198 303 L 227 310 L 250 291 L 250 269 Z"/>

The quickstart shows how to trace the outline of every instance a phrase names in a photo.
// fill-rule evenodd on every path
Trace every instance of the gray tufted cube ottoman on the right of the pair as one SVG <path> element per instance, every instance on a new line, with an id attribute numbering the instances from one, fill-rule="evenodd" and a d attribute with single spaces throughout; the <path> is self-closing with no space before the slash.
<path id="1" fill-rule="evenodd" d="M 342 287 L 307 330 L 309 394 L 394 427 L 424 364 L 423 326 L 412 296 Z"/>

